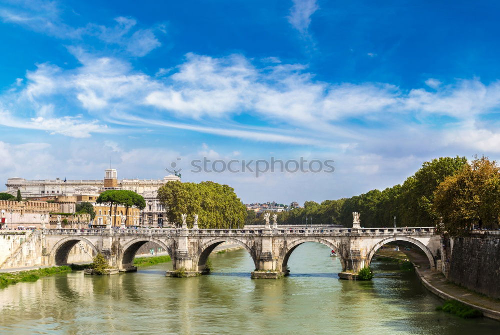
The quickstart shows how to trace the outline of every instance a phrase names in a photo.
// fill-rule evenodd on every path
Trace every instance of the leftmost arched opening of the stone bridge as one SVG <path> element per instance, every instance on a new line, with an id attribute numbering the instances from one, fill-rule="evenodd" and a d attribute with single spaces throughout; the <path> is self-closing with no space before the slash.
<path id="1" fill-rule="evenodd" d="M 90 263 L 97 249 L 85 238 L 70 237 L 59 241 L 52 249 L 51 259 L 55 265 L 69 263 Z M 70 262 L 68 261 L 70 258 Z"/>

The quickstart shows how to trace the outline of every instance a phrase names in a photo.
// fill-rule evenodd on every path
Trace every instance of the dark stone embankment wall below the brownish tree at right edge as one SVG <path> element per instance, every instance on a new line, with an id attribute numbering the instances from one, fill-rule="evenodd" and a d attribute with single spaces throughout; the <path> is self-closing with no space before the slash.
<path id="1" fill-rule="evenodd" d="M 448 280 L 500 299 L 500 231 L 454 238 Z"/>

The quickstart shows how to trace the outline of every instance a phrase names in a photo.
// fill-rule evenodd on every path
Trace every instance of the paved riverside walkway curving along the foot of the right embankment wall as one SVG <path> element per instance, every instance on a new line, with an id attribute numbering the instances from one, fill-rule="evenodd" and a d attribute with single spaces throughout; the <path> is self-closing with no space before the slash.
<path id="1" fill-rule="evenodd" d="M 500 301 L 448 282 L 442 273 L 430 271 L 428 261 L 422 254 L 412 250 L 394 251 L 391 249 L 379 250 L 376 253 L 377 256 L 399 259 L 401 261 L 407 259 L 413 263 L 418 279 L 427 290 L 445 301 L 458 301 L 481 311 L 487 318 L 500 321 Z"/>

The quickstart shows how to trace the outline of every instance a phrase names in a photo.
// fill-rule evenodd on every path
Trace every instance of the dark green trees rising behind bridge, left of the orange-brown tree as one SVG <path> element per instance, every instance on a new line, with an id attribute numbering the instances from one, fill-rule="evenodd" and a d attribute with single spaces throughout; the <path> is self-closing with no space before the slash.
<path id="1" fill-rule="evenodd" d="M 434 221 L 432 203 L 434 190 L 446 179 L 459 171 L 465 157 L 440 157 L 424 162 L 422 167 L 402 185 L 380 190 L 370 190 L 347 199 L 325 200 L 321 204 L 307 201 L 303 208 L 278 214 L 280 224 L 305 224 L 312 218 L 313 224 L 341 224 L 352 226 L 352 212 L 361 214 L 363 227 L 396 226 L 422 227 Z"/>

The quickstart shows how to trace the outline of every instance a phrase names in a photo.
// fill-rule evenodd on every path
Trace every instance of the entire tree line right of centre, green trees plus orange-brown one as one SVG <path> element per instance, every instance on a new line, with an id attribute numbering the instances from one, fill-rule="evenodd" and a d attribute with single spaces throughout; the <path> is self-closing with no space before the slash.
<path id="1" fill-rule="evenodd" d="M 359 212 L 363 227 L 428 227 L 437 225 L 459 235 L 472 225 L 498 227 L 500 168 L 487 157 L 470 163 L 465 157 L 440 157 L 424 162 L 402 184 L 382 191 L 318 204 L 278 214 L 280 224 L 340 224 L 352 226 L 352 212 Z M 259 222 L 255 219 L 254 222 Z"/>

